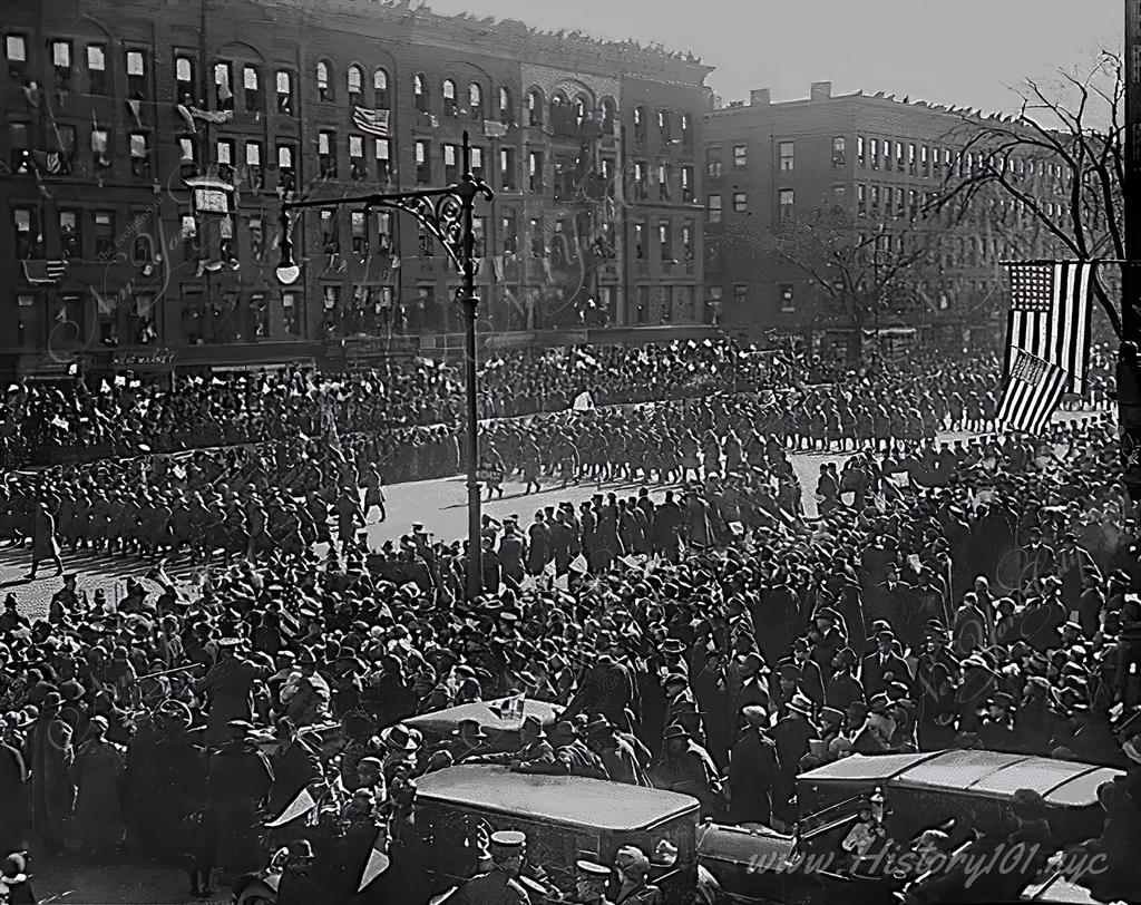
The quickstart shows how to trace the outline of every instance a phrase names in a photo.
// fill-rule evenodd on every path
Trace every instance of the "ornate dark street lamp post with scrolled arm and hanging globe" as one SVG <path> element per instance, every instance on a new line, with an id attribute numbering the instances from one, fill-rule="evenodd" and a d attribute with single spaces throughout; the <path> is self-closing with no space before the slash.
<path id="1" fill-rule="evenodd" d="M 351 197 L 321 201 L 282 202 L 281 261 L 277 278 L 285 284 L 294 283 L 301 269 L 293 259 L 293 243 L 290 240 L 290 211 L 302 208 L 337 208 L 343 204 L 363 204 L 369 208 L 386 208 L 415 217 L 420 225 L 435 236 L 447 252 L 448 259 L 459 270 L 462 285 L 459 301 L 464 315 L 464 378 L 467 383 L 467 438 L 464 458 L 468 475 L 468 597 L 478 597 L 483 589 L 483 544 L 479 514 L 479 409 L 476 385 L 476 306 L 475 293 L 477 264 L 475 258 L 475 231 L 472 212 L 476 199 L 492 201 L 494 195 L 483 179 L 471 173 L 471 146 L 468 134 L 463 134 L 463 176 L 460 181 L 446 188 L 426 188 L 415 192 L 390 194 L 355 195 Z"/>

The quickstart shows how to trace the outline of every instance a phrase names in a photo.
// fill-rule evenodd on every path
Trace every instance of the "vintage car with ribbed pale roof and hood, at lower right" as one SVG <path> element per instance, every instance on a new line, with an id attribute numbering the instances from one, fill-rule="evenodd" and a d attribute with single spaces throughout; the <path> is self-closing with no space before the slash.
<path id="1" fill-rule="evenodd" d="M 1100 834 L 1098 787 L 1120 775 L 1106 767 L 992 751 L 855 754 L 798 777 L 795 835 L 707 824 L 698 831 L 698 858 L 737 903 L 887 905 L 915 878 L 900 873 L 889 857 L 860 864 L 845 842 L 861 824 L 882 827 L 884 840 L 904 845 L 950 821 L 1001 838 L 1015 825 L 1013 793 L 1030 789 L 1046 801 L 1046 819 L 1066 846 Z M 1082 902 L 1079 890 L 1055 878 L 1023 895 Z"/>

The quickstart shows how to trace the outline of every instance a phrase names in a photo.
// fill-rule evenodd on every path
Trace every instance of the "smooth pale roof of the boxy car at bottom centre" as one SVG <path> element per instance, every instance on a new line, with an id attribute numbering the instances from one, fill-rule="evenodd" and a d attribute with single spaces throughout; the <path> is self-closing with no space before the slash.
<path id="1" fill-rule="evenodd" d="M 448 767 L 421 776 L 416 800 L 617 832 L 646 830 L 689 813 L 696 821 L 699 808 L 697 799 L 677 792 L 483 765 Z"/>

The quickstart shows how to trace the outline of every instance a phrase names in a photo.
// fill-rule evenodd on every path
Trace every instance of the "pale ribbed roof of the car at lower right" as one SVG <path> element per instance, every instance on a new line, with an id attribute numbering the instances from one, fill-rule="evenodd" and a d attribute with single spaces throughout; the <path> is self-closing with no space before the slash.
<path id="1" fill-rule="evenodd" d="M 924 754 L 853 754 L 802 774 L 807 782 L 868 779 L 895 787 L 954 789 L 1009 797 L 1031 789 L 1047 803 L 1097 803 L 1098 787 L 1123 775 L 1110 767 L 998 751 L 936 751 Z"/>

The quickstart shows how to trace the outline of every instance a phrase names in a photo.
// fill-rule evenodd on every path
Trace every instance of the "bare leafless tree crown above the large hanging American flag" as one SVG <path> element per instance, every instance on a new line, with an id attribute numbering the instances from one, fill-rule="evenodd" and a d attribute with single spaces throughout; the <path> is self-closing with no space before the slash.
<path id="1" fill-rule="evenodd" d="M 954 221 L 986 220 L 1034 231 L 1052 256 L 1125 259 L 1125 78 L 1120 55 L 1103 50 L 1086 72 L 1060 71 L 1057 83 L 1027 80 L 1013 116 L 968 113 L 948 143 L 961 148 L 929 212 Z M 1012 223 L 1005 224 L 1004 221 Z M 1031 231 L 1033 227 L 1033 231 Z M 1014 247 L 1015 253 L 1025 249 Z M 1093 291 L 1120 338 L 1109 292 L 1119 270 L 1102 272 Z"/>

